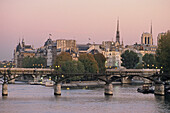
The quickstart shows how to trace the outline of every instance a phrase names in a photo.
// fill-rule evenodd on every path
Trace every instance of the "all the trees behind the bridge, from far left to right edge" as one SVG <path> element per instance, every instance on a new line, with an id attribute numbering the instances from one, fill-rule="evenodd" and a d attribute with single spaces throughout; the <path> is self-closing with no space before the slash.
<path id="1" fill-rule="evenodd" d="M 161 68 L 164 73 L 170 73 L 170 33 L 159 40 L 156 55 L 145 54 L 139 63 L 137 53 L 125 51 L 122 55 L 122 66 L 127 69 L 134 68 Z M 69 53 L 62 52 L 56 57 L 54 68 L 64 73 L 102 73 L 105 72 L 106 58 L 103 54 L 80 54 L 78 61 L 73 61 Z M 25 68 L 46 67 L 46 59 L 25 57 L 22 66 Z"/>

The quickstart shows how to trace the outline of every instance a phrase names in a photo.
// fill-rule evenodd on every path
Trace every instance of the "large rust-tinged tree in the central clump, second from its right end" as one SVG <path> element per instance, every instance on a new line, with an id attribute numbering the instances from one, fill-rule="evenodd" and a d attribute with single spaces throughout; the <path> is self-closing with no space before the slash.
<path id="1" fill-rule="evenodd" d="M 83 63 L 86 73 L 97 73 L 99 71 L 97 62 L 92 54 L 80 54 L 79 61 Z"/>

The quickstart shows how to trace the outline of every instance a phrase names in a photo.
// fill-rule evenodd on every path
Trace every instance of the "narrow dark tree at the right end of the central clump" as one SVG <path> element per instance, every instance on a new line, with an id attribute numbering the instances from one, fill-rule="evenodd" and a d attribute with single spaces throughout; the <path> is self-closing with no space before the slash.
<path id="1" fill-rule="evenodd" d="M 97 61 L 98 67 L 99 67 L 99 72 L 100 73 L 104 73 L 106 68 L 105 68 L 105 61 L 106 58 L 103 54 L 98 53 L 98 54 L 94 54 L 94 58 Z"/>

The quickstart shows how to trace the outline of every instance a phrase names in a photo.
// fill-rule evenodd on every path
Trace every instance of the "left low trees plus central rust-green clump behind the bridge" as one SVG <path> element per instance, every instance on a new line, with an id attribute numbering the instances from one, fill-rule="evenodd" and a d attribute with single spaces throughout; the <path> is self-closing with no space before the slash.
<path id="1" fill-rule="evenodd" d="M 72 59 L 67 52 L 62 52 L 56 56 L 51 68 L 61 73 L 98 73 L 105 72 L 105 57 L 103 54 L 80 54 L 78 61 Z M 46 67 L 46 59 L 42 57 L 24 57 L 22 67 L 24 68 L 43 68 Z"/>

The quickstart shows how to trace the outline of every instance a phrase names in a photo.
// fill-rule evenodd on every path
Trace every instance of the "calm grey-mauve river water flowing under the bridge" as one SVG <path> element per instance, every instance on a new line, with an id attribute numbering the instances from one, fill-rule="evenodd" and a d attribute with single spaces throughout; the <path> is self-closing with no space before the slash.
<path id="1" fill-rule="evenodd" d="M 10 84 L 0 113 L 170 113 L 170 97 L 138 93 L 135 85 L 113 87 L 113 96 L 104 96 L 103 88 L 62 89 L 54 96 L 52 87 Z"/>

